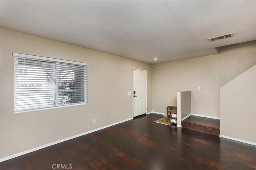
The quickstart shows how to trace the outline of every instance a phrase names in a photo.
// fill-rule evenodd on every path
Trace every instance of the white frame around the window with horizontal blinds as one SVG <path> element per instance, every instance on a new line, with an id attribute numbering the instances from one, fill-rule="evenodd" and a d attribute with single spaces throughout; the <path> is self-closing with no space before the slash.
<path id="1" fill-rule="evenodd" d="M 30 59 L 38 59 L 38 60 L 47 60 L 47 61 L 53 61 L 53 62 L 60 62 L 60 63 L 68 63 L 68 64 L 79 64 L 79 65 L 84 65 L 87 66 L 87 63 L 82 63 L 82 62 L 76 62 L 76 61 L 69 61 L 69 60 L 62 60 L 62 59 L 54 59 L 50 57 L 41 57 L 41 56 L 36 56 L 36 55 L 28 55 L 28 54 L 22 54 L 22 53 L 12 53 L 14 57 L 26 57 Z M 14 113 L 24 113 L 24 112 L 30 112 L 30 111 L 38 111 L 38 110 L 46 110 L 46 109 L 56 109 L 56 108 L 61 108 L 61 107 L 69 107 L 69 106 L 79 106 L 79 105 L 86 105 L 88 103 L 88 82 L 87 82 L 87 72 L 85 75 L 86 78 L 86 101 L 81 102 L 81 103 L 75 103 L 75 104 L 66 104 L 66 105 L 58 105 L 58 106 L 53 106 L 53 107 L 46 107 L 46 108 L 40 108 L 40 109 L 30 109 L 30 110 L 24 110 L 24 111 L 14 111 Z M 15 79 L 15 75 L 14 75 Z M 14 96 L 15 96 L 15 90 L 14 90 Z M 15 106 L 15 100 L 14 100 L 14 106 Z"/>

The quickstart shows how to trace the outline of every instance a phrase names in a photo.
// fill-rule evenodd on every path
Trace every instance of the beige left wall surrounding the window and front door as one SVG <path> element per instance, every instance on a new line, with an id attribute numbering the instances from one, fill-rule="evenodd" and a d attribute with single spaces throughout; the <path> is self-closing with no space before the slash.
<path id="1" fill-rule="evenodd" d="M 14 114 L 12 52 L 88 63 L 88 104 Z M 0 158 L 131 118 L 132 68 L 147 70 L 149 112 L 150 64 L 1 28 Z"/>

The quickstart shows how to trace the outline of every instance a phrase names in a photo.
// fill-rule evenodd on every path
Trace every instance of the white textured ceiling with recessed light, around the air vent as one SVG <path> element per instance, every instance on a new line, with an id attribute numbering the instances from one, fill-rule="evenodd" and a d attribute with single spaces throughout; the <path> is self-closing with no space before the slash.
<path id="1" fill-rule="evenodd" d="M 0 1 L 0 26 L 143 61 L 256 39 L 256 1 Z M 208 38 L 234 33 L 209 42 Z M 154 58 L 158 58 L 154 61 Z"/>

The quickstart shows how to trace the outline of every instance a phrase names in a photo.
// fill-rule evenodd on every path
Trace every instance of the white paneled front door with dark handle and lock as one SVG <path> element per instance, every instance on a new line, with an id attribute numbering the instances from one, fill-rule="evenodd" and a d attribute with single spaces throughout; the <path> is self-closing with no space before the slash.
<path id="1" fill-rule="evenodd" d="M 147 113 L 147 75 L 133 69 L 133 117 Z"/>

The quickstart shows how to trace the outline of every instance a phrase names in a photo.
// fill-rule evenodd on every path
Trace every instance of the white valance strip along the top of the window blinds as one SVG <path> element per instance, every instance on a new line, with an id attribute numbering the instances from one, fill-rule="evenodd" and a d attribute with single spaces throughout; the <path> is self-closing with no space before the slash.
<path id="1" fill-rule="evenodd" d="M 50 57 L 42 57 L 42 56 L 37 56 L 37 55 L 28 55 L 28 54 L 21 54 L 21 53 L 12 53 L 13 56 L 16 57 L 26 57 L 30 59 L 39 59 L 39 60 L 48 60 L 48 61 L 55 61 L 55 62 L 64 62 L 64 63 L 71 63 L 71 64 L 80 64 L 87 66 L 87 63 L 81 63 L 81 62 L 76 62 L 76 61 L 69 61 L 69 60 L 62 60 L 62 59 L 54 59 Z"/>

